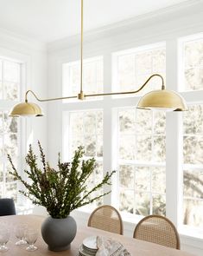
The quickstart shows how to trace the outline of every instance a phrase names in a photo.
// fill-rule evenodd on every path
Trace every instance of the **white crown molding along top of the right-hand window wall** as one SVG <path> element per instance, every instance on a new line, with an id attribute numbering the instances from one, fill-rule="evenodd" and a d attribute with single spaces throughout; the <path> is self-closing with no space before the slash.
<path id="1" fill-rule="evenodd" d="M 84 43 L 89 43 L 105 37 L 126 33 L 130 30 L 140 30 L 155 24 L 167 23 L 175 19 L 191 16 L 194 13 L 203 12 L 202 0 L 189 0 L 178 3 L 167 8 L 149 12 L 144 15 L 135 16 L 122 22 L 113 23 L 95 30 L 88 30 L 84 33 Z M 179 28 L 173 28 L 174 30 Z M 80 35 L 68 36 L 66 38 L 48 43 L 48 52 L 64 50 L 80 43 Z"/>

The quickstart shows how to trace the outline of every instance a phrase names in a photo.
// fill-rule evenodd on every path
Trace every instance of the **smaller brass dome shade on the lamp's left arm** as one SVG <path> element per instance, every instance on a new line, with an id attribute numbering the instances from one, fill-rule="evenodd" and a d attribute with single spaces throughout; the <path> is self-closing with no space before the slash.
<path id="1" fill-rule="evenodd" d="M 10 111 L 10 116 L 43 116 L 41 108 L 31 102 L 21 102 L 16 104 Z"/>

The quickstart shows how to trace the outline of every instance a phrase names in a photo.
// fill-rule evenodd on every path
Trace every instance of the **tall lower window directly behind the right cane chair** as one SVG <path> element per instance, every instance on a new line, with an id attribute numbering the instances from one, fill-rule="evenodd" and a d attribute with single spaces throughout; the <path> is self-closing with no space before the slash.
<path id="1" fill-rule="evenodd" d="M 140 215 L 166 214 L 166 116 L 119 110 L 119 208 Z"/>

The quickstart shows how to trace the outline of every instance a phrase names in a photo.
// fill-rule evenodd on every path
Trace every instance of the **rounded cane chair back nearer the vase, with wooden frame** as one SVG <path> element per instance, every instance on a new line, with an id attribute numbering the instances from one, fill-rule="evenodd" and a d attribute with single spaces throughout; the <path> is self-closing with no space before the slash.
<path id="1" fill-rule="evenodd" d="M 123 234 L 123 221 L 117 209 L 108 205 L 96 208 L 90 215 L 87 226 L 111 233 Z"/>

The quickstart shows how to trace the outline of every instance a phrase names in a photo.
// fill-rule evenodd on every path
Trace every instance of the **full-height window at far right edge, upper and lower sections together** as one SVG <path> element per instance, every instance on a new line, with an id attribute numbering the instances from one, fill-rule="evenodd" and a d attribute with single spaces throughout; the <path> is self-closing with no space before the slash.
<path id="1" fill-rule="evenodd" d="M 184 90 L 188 111 L 183 115 L 183 224 L 203 227 L 203 38 L 182 39 Z M 198 90 L 197 94 L 193 91 Z M 190 92 L 191 91 L 191 92 Z"/>

